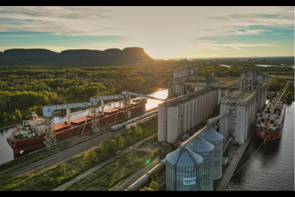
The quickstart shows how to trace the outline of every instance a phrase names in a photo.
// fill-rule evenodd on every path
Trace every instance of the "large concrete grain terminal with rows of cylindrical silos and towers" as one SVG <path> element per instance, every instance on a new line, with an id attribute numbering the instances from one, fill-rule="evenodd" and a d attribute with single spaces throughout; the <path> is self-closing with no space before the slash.
<path id="1" fill-rule="evenodd" d="M 185 69 L 184 69 L 185 70 Z M 184 72 L 183 70 L 183 72 Z M 191 70 L 191 69 L 190 69 Z M 179 72 L 179 70 L 175 70 Z M 254 126 L 255 115 L 265 106 L 268 79 L 257 77 L 257 70 L 241 68 L 241 76 L 197 80 L 193 71 L 181 76 L 183 87 L 190 90 L 159 104 L 158 140 L 173 143 L 214 114 L 220 104 L 220 114 L 234 110 L 225 118 L 219 133 L 242 144 Z M 180 81 L 179 81 L 180 82 Z M 192 91 L 192 87 L 194 90 Z M 174 87 L 171 88 L 175 94 Z M 192 91 L 192 92 L 190 92 Z M 180 92 L 182 94 L 184 92 Z M 229 124 L 230 122 L 230 124 Z"/>

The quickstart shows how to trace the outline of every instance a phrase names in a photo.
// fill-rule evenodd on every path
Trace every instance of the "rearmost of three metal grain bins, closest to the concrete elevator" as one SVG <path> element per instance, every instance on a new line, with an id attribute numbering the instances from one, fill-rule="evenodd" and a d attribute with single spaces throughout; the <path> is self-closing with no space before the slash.
<path id="1" fill-rule="evenodd" d="M 201 137 L 214 145 L 213 179 L 219 179 L 222 177 L 223 135 L 208 128 L 201 133 Z"/>

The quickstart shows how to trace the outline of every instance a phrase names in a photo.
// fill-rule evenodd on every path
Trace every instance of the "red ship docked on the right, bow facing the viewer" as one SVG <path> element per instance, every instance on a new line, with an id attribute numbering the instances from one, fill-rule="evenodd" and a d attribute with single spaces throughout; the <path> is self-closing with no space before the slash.
<path id="1" fill-rule="evenodd" d="M 256 133 L 266 142 L 281 137 L 285 120 L 287 101 L 282 99 L 288 83 L 275 98 L 271 98 L 265 109 L 259 113 L 255 120 Z"/>

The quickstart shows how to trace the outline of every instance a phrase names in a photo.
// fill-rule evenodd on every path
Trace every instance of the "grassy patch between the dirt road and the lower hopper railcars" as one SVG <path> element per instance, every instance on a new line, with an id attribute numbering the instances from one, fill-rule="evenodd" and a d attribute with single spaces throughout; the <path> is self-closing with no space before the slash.
<path id="1" fill-rule="evenodd" d="M 149 152 L 136 150 L 121 155 L 92 175 L 67 187 L 66 191 L 110 191 L 119 186 L 125 179 L 147 165 Z"/>

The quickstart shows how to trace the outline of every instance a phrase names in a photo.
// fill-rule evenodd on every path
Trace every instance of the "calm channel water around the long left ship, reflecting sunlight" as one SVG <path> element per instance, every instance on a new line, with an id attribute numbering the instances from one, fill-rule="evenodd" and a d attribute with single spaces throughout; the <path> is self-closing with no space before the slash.
<path id="1" fill-rule="evenodd" d="M 155 98 L 165 99 L 168 96 L 168 89 L 160 90 L 158 92 L 154 92 L 154 93 L 147 94 L 147 95 L 155 97 Z M 139 98 L 140 97 L 132 98 L 132 100 L 139 99 Z M 148 103 L 146 104 L 146 109 L 148 110 L 148 109 L 151 109 L 154 107 L 158 107 L 159 103 L 162 103 L 162 101 L 148 99 Z M 112 103 L 111 105 L 107 105 L 104 107 L 104 109 L 105 110 L 110 109 L 115 106 L 118 107 L 119 105 L 120 105 L 120 101 Z M 87 116 L 87 115 L 88 115 L 88 111 L 73 115 L 73 116 L 71 116 L 71 119 L 76 119 L 76 118 L 79 118 L 82 116 Z M 61 122 L 64 122 L 66 119 L 67 119 L 66 115 L 61 115 L 61 116 L 55 117 L 54 121 L 55 121 L 55 123 L 61 123 Z M 10 135 L 10 133 L 12 132 L 13 129 L 14 128 L 10 128 L 10 129 L 5 129 L 5 130 L 0 131 L 0 164 L 14 159 L 13 151 L 6 141 L 6 138 Z"/>

